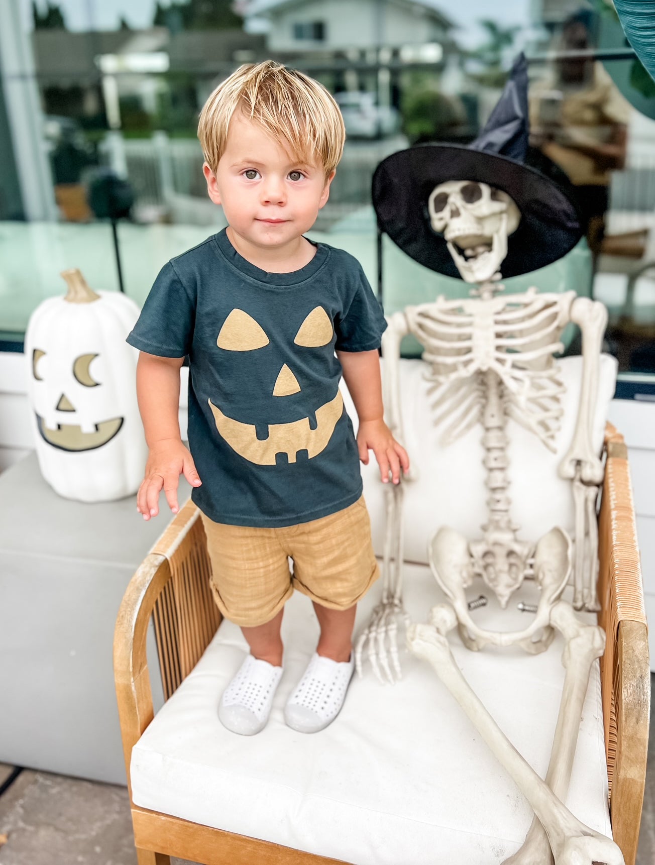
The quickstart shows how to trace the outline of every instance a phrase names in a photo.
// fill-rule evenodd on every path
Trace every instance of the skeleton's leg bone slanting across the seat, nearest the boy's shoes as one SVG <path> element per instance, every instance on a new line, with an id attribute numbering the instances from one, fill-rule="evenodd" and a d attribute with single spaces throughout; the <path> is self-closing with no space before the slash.
<path id="1" fill-rule="evenodd" d="M 441 605 L 445 606 L 445 605 Z M 612 840 L 581 823 L 555 796 L 549 786 L 512 746 L 462 676 L 443 632 L 451 630 L 457 617 L 451 608 L 449 617 L 436 626 L 412 625 L 408 630 L 408 648 L 417 657 L 427 660 L 464 709 L 474 727 L 482 735 L 491 752 L 509 772 L 519 791 L 527 798 L 549 839 L 555 865 L 625 865 L 625 860 Z M 439 628 L 439 630 L 437 630 Z"/>

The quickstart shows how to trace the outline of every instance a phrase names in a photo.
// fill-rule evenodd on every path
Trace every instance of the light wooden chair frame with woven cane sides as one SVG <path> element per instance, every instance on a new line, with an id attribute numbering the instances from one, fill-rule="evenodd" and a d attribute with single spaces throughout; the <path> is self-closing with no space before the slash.
<path id="1" fill-rule="evenodd" d="M 627 451 L 610 425 L 605 451 L 599 516 L 599 618 L 607 633 L 607 650 L 600 663 L 600 679 L 613 836 L 626 865 L 634 865 L 644 798 L 651 677 Z M 153 718 L 145 653 L 151 618 L 168 699 L 196 665 L 221 621 L 209 592 L 202 522 L 191 502 L 134 574 L 116 623 L 114 672 L 128 787 L 132 747 Z M 337 862 L 147 811 L 133 803 L 132 822 L 139 865 L 170 865 L 170 856 L 203 865 Z"/>

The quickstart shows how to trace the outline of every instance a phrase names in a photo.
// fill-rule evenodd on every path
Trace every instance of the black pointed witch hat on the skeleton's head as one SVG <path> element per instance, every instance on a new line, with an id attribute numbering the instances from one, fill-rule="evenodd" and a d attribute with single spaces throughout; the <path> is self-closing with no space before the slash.
<path id="1" fill-rule="evenodd" d="M 503 276 L 562 258 L 582 234 L 575 192 L 550 160 L 529 151 L 528 131 L 527 63 L 520 54 L 472 144 L 419 144 L 377 166 L 372 192 L 378 227 L 421 265 L 459 277 L 446 240 L 430 225 L 427 200 L 435 186 L 448 180 L 487 183 L 510 195 L 521 211 L 521 222 L 508 238 Z M 530 164 L 537 158 L 538 166 Z"/>

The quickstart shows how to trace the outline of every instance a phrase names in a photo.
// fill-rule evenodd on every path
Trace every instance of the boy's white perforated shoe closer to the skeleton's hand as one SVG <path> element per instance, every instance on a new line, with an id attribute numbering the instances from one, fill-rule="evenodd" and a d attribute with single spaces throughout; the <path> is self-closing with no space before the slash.
<path id="1" fill-rule="evenodd" d="M 355 652 L 350 661 L 332 661 L 314 653 L 305 676 L 286 702 L 285 721 L 299 733 L 318 733 L 337 717 L 355 670 Z"/>

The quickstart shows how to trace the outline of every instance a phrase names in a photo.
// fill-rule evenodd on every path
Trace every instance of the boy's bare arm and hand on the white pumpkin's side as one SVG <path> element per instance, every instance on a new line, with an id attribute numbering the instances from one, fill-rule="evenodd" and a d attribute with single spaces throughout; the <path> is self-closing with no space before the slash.
<path id="1" fill-rule="evenodd" d="M 170 509 L 177 514 L 177 484 L 181 474 L 192 486 L 201 484 L 193 458 L 180 438 L 178 411 L 183 361 L 183 357 L 158 357 L 144 351 L 138 356 L 138 410 L 150 451 L 137 494 L 137 510 L 144 520 L 157 516 L 162 489 Z"/>

